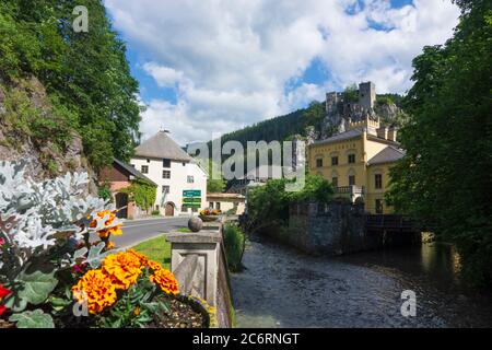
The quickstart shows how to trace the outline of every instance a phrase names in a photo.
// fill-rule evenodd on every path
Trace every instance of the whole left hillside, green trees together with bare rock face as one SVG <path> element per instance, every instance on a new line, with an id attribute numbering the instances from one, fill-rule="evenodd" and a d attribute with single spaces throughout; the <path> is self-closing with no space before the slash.
<path id="1" fill-rule="evenodd" d="M 73 30 L 77 5 L 87 8 L 86 33 Z M 80 158 L 95 168 L 128 160 L 137 93 L 101 0 L 0 2 L 1 159 L 28 156 L 51 175 L 83 165 Z"/>

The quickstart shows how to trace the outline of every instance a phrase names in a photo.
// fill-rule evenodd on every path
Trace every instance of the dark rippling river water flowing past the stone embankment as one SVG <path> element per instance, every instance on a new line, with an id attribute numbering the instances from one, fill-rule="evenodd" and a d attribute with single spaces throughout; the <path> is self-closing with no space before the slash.
<path id="1" fill-rule="evenodd" d="M 249 237 L 232 273 L 238 327 L 491 327 L 492 294 L 467 290 L 453 247 L 420 246 L 312 257 Z M 412 290 L 417 315 L 401 315 Z"/>

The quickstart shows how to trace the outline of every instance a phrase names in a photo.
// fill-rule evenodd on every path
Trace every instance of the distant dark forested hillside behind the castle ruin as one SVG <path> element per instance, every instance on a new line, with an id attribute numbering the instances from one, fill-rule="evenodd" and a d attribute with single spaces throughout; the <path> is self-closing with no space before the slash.
<path id="1" fill-rule="evenodd" d="M 402 96 L 398 94 L 378 94 L 376 103 L 378 106 L 395 104 L 397 107 L 401 107 L 401 100 Z M 246 145 L 247 141 L 283 141 L 291 139 L 293 136 L 305 138 L 309 130 L 321 133 L 324 118 L 325 102 L 314 101 L 306 108 L 301 108 L 290 114 L 225 133 L 222 136 L 222 142 L 237 140 L 243 145 Z M 330 130 L 325 131 L 326 133 L 330 133 Z"/>

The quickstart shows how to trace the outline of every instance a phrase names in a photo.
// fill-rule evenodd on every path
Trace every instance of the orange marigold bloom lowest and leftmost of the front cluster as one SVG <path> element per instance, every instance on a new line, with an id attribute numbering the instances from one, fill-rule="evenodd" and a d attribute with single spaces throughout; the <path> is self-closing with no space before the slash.
<path id="1" fill-rule="evenodd" d="M 116 302 L 116 289 L 109 276 L 102 270 L 90 270 L 72 287 L 73 296 L 85 303 L 91 314 L 103 312 Z"/>

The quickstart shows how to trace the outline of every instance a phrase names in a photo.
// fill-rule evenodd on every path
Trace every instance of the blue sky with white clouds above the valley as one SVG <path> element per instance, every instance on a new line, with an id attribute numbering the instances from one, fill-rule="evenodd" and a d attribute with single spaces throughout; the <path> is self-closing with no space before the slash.
<path id="1" fill-rule="evenodd" d="M 453 35 L 449 0 L 104 0 L 147 106 L 143 139 L 208 141 L 373 81 L 405 93 L 411 61 Z"/>

